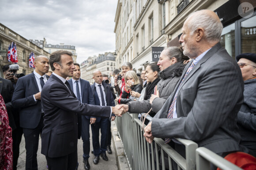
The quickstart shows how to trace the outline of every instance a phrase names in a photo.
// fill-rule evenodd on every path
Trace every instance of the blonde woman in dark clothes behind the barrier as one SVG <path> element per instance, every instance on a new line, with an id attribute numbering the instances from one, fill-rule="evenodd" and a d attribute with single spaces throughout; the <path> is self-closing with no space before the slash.
<path id="1" fill-rule="evenodd" d="M 134 98 L 131 96 L 130 92 L 135 91 L 138 93 L 141 93 L 143 87 L 139 83 L 139 78 L 134 71 L 128 71 L 125 74 L 124 77 L 125 81 L 125 87 L 124 87 L 124 92 L 121 95 L 121 98 L 117 98 L 117 103 L 118 104 L 126 104 L 129 101 L 137 100 L 137 98 Z"/>

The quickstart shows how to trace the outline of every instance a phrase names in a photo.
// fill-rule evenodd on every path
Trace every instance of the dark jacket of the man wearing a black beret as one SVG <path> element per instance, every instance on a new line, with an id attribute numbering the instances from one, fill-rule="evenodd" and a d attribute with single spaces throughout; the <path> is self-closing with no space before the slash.
<path id="1" fill-rule="evenodd" d="M 256 79 L 245 80 L 244 103 L 237 114 L 241 145 L 256 156 Z"/>

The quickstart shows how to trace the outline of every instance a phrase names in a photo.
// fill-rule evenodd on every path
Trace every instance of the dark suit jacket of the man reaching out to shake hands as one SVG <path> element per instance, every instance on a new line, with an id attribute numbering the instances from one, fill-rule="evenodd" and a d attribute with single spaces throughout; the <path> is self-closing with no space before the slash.
<path id="1" fill-rule="evenodd" d="M 75 96 L 75 94 L 73 94 Z M 41 92 L 45 111 L 41 153 L 51 158 L 67 156 L 77 150 L 77 113 L 110 117 L 110 107 L 82 104 L 53 74 Z"/>

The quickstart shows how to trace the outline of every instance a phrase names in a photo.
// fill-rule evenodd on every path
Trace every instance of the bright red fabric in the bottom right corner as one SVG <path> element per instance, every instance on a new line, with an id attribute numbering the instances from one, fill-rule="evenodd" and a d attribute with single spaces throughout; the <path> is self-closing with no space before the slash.
<path id="1" fill-rule="evenodd" d="M 239 166 L 243 170 L 256 170 L 256 158 L 248 153 L 233 152 L 225 156 L 226 160 Z M 217 170 L 221 170 L 218 168 Z"/>

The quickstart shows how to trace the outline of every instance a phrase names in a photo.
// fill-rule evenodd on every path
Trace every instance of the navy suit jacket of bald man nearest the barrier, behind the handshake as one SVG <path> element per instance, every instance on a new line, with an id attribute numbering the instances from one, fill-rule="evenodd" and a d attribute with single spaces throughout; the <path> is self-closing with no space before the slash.
<path id="1" fill-rule="evenodd" d="M 102 85 L 104 87 L 104 92 L 106 95 L 107 106 L 115 106 L 115 101 L 114 101 L 112 92 L 110 90 L 110 87 L 105 82 L 102 82 Z M 96 91 L 95 82 L 90 87 L 92 90 L 92 94 L 94 96 L 95 105 L 100 105 L 100 99 L 99 99 L 98 93 Z M 115 115 L 112 114 L 112 116 L 115 116 Z M 100 120 L 101 120 L 101 118 L 97 117 L 96 123 L 100 122 Z"/>

